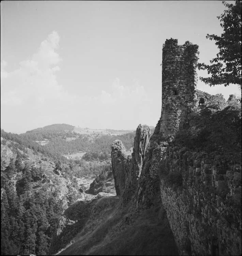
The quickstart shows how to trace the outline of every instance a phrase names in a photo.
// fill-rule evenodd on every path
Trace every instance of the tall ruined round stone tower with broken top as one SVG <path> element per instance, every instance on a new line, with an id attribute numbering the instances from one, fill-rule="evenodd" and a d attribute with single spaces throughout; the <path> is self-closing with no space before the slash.
<path id="1" fill-rule="evenodd" d="M 198 45 L 177 39 L 167 39 L 162 57 L 162 111 L 160 134 L 171 141 L 182 128 L 195 98 Z"/>

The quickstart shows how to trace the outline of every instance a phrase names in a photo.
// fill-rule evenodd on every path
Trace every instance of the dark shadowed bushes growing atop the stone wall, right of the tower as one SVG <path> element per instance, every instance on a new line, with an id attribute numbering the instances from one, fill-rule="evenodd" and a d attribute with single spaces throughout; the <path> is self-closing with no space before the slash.
<path id="1" fill-rule="evenodd" d="M 210 105 L 194 111 L 173 143 L 207 153 L 229 154 L 240 163 L 241 108 L 227 106 L 220 110 L 217 105 Z"/>

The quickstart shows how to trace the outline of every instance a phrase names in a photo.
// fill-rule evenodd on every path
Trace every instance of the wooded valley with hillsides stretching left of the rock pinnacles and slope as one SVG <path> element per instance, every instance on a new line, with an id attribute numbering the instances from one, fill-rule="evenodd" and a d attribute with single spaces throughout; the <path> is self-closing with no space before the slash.
<path id="1" fill-rule="evenodd" d="M 20 135 L 1 130 L 3 254 L 48 254 L 59 218 L 71 204 L 116 195 L 113 176 L 110 175 L 110 159 L 105 154 L 106 158 L 99 159 L 101 148 L 105 153 L 105 148 L 111 143 L 108 146 L 106 140 L 98 140 L 96 144 L 94 134 L 88 136 L 89 139 L 78 137 L 76 133 L 61 130 L 61 127 L 63 124 L 52 125 Z M 66 127 L 71 126 L 64 125 Z M 78 144 L 70 145 L 75 140 L 68 138 L 78 139 Z M 128 134 L 127 143 L 131 144 L 132 138 L 133 133 Z M 62 151 L 58 148 L 60 145 Z M 89 152 L 88 161 L 81 159 L 86 152 L 78 153 L 76 145 Z M 92 151 L 93 148 L 100 148 L 100 151 L 93 155 L 96 152 Z M 63 154 L 67 152 L 69 154 Z M 40 208 L 42 210 L 38 210 Z M 37 221 L 36 217 L 42 221 Z M 13 236 L 16 228 L 8 231 L 12 222 L 17 229 L 22 229 L 20 239 Z M 6 232 L 10 232 L 10 236 Z M 28 244 L 27 234 L 32 239 Z"/>

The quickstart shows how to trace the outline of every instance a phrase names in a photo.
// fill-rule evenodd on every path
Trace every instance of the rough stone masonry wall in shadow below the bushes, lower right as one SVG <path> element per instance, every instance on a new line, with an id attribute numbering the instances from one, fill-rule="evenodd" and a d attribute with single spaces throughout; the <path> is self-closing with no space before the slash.
<path id="1" fill-rule="evenodd" d="M 241 255 L 241 165 L 168 148 L 161 166 L 182 176 L 179 187 L 160 183 L 180 255 Z"/>

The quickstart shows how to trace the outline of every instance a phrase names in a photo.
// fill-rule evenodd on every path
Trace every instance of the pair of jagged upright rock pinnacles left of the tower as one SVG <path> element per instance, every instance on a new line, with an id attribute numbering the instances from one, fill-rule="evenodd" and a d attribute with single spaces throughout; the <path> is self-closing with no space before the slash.
<path id="1" fill-rule="evenodd" d="M 117 195 L 123 202 L 130 201 L 137 189 L 143 160 L 149 148 L 151 132 L 147 125 L 139 124 L 136 129 L 132 156 L 126 153 L 121 141 L 114 141 L 111 148 L 112 172 Z"/>

